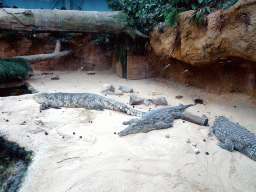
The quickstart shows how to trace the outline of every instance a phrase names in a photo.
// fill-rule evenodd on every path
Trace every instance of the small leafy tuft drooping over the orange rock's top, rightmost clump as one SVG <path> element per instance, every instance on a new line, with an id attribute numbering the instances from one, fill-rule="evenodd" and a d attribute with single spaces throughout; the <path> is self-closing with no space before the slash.
<path id="1" fill-rule="evenodd" d="M 197 25 L 203 25 L 206 23 L 209 13 L 211 13 L 210 7 L 196 9 L 190 16 L 189 21 L 191 22 L 193 20 Z"/>

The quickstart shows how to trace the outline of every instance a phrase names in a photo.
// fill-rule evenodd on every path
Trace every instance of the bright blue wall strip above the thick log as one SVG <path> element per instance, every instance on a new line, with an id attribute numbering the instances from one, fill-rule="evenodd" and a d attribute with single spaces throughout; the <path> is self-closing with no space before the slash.
<path id="1" fill-rule="evenodd" d="M 82 11 L 111 11 L 105 0 L 0 0 L 4 6 L 25 9 L 61 9 L 65 6 L 67 10 Z"/>

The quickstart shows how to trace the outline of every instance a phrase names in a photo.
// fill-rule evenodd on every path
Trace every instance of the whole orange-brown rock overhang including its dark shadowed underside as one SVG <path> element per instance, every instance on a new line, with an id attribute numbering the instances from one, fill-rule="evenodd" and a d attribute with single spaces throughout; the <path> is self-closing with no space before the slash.
<path id="1" fill-rule="evenodd" d="M 207 24 L 179 16 L 179 26 L 151 33 L 150 63 L 162 76 L 214 92 L 256 94 L 256 1 L 215 10 Z"/>

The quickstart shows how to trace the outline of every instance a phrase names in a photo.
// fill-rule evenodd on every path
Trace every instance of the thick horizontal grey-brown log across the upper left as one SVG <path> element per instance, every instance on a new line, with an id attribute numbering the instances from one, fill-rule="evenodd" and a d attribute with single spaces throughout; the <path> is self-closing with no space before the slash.
<path id="1" fill-rule="evenodd" d="M 120 11 L 0 9 L 0 29 L 5 30 L 120 33 L 124 28 Z"/>

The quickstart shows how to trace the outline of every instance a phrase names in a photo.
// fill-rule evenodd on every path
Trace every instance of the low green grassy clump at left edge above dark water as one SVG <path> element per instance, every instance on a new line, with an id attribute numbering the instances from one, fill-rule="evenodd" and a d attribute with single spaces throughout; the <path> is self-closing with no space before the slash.
<path id="1" fill-rule="evenodd" d="M 24 80 L 31 65 L 24 59 L 0 59 L 0 82 Z"/>

